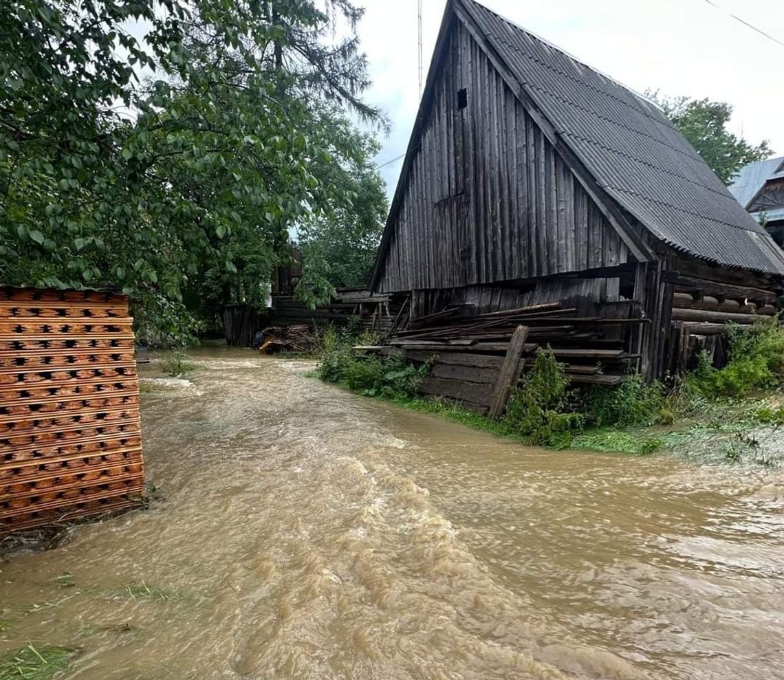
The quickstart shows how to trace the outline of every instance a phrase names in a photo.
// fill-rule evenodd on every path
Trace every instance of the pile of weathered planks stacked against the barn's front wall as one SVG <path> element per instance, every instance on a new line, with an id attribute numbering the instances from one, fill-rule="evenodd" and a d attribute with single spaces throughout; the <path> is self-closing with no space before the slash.
<path id="1" fill-rule="evenodd" d="M 390 335 L 387 345 L 357 349 L 393 353 L 415 362 L 437 357 L 423 382 L 423 394 L 456 400 L 492 417 L 499 408 L 503 411 L 499 395 L 509 387 L 504 366 L 514 360 L 514 338 L 521 337 L 520 327 L 526 329 L 524 343 L 514 360 L 510 384 L 544 349 L 552 349 L 572 382 L 594 385 L 618 385 L 629 374 L 630 362 L 638 358 L 626 347 L 628 331 L 644 323 L 640 318 L 578 316 L 575 306 L 559 302 L 479 315 L 472 311 L 461 306 L 419 317 L 405 331 Z"/>

